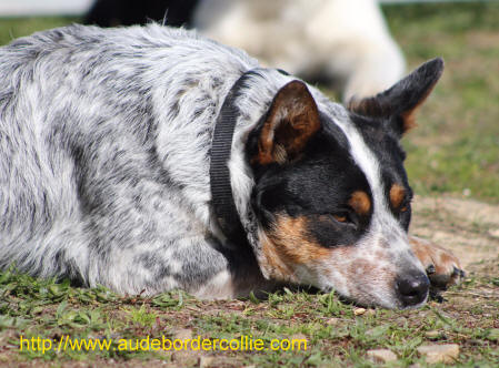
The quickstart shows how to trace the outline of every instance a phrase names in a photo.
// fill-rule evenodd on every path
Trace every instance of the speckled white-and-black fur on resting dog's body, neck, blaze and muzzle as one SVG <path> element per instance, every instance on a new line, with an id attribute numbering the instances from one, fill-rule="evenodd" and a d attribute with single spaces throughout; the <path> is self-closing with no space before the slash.
<path id="1" fill-rule="evenodd" d="M 233 102 L 240 115 L 229 168 L 258 264 L 227 253 L 209 180 L 214 122 L 233 83 L 250 70 Z M 0 268 L 14 263 L 32 275 L 121 294 L 182 288 L 217 298 L 271 287 L 244 146 L 276 93 L 292 80 L 240 50 L 158 24 L 71 25 L 1 48 Z M 385 270 L 423 268 L 389 211 L 379 161 L 348 111 L 308 89 L 347 137 L 375 211 L 348 259 L 331 249 L 320 264 L 297 267 L 291 280 L 398 306 Z M 343 266 L 353 260 L 372 265 L 373 276 L 355 267 L 357 274 L 348 274 L 351 267 Z"/>

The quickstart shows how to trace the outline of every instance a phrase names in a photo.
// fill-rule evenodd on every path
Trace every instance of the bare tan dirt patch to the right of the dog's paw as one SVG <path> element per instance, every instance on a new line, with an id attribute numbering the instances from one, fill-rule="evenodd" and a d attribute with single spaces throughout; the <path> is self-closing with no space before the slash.
<path id="1" fill-rule="evenodd" d="M 452 251 L 466 268 L 499 256 L 499 205 L 416 196 L 410 232 Z"/>

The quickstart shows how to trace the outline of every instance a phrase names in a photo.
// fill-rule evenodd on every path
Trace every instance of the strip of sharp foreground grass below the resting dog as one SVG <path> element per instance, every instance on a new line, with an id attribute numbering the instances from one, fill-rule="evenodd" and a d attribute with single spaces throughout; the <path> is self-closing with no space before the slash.
<path id="1" fill-rule="evenodd" d="M 496 263 L 497 264 L 497 263 Z M 356 316 L 355 307 L 335 294 L 270 294 L 266 300 L 201 301 L 181 292 L 153 298 L 119 297 L 104 288 L 84 289 L 69 283 L 33 279 L 11 270 L 0 274 L 0 362 L 86 360 L 98 365 L 144 364 L 167 360 L 169 351 L 119 351 L 118 339 L 174 338 L 188 329 L 192 337 L 231 339 L 241 335 L 272 339 L 306 338 L 301 351 L 182 352 L 184 366 L 196 366 L 200 355 L 213 356 L 214 365 L 256 364 L 259 367 L 350 364 L 370 367 L 369 349 L 387 348 L 398 356 L 395 366 L 426 366 L 417 348 L 425 344 L 459 344 L 460 366 L 492 367 L 499 359 L 499 292 L 497 276 L 472 275 L 446 295 L 419 310 L 368 309 Z M 477 303 L 479 299 L 479 303 Z M 40 337 L 53 345 L 71 338 L 112 338 L 109 351 L 19 351 L 20 336 Z"/>

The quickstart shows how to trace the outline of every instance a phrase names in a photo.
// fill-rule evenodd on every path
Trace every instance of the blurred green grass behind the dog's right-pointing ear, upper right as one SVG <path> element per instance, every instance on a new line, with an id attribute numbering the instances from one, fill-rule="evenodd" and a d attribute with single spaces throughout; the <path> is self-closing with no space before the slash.
<path id="1" fill-rule="evenodd" d="M 386 7 L 411 68 L 437 55 L 443 78 L 405 139 L 416 192 L 499 202 L 499 3 Z"/>

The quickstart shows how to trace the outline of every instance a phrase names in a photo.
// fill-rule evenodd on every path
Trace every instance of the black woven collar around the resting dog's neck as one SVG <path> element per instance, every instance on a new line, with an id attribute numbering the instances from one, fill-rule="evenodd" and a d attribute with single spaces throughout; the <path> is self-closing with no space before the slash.
<path id="1" fill-rule="evenodd" d="M 246 72 L 230 89 L 217 117 L 211 140 L 210 183 L 214 216 L 229 244 L 237 246 L 247 244 L 248 239 L 233 201 L 227 164 L 230 160 L 233 132 L 240 113 L 234 101 L 240 95 L 244 82 L 255 73 L 252 70 Z"/>

